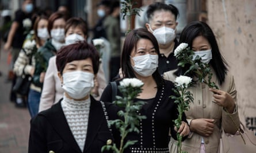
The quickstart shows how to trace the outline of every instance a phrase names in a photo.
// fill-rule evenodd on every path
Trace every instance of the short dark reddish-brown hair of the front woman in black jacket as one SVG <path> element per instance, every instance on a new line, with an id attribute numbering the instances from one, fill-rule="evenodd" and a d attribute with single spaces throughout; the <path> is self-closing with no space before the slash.
<path id="1" fill-rule="evenodd" d="M 68 62 L 85 60 L 87 58 L 91 59 L 94 74 L 97 74 L 100 64 L 100 54 L 93 45 L 88 44 L 86 41 L 79 41 L 75 44 L 63 46 L 56 55 L 57 69 L 60 74 L 62 74 L 63 69 Z"/>

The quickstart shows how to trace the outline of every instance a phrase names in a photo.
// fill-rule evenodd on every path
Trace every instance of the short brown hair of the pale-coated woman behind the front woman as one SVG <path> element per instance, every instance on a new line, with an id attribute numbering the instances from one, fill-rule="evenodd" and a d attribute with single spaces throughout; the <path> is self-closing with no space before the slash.
<path id="1" fill-rule="evenodd" d="M 71 27 L 79 27 L 82 29 L 83 34 L 85 34 L 85 36 L 87 36 L 87 23 L 85 22 L 85 20 L 83 20 L 82 18 L 70 18 L 68 19 L 68 21 L 66 22 L 66 26 L 65 26 L 65 35 L 67 33 L 67 30 L 70 29 Z"/>

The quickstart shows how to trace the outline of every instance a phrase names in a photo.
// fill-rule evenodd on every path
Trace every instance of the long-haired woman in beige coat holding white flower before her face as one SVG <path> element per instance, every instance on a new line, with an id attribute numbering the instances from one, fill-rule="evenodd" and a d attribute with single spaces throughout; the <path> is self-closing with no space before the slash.
<path id="1" fill-rule="evenodd" d="M 182 31 L 179 42 L 188 43 L 196 55 L 203 57 L 202 62 L 211 66 L 212 81 L 220 88 L 211 89 L 204 83 L 197 83 L 190 89 L 194 95 L 194 103 L 190 103 L 190 109 L 185 114 L 192 134 L 182 142 L 182 150 L 217 152 L 221 127 L 225 132 L 235 134 L 240 124 L 234 78 L 228 73 L 227 63 L 221 56 L 216 38 L 207 23 L 189 23 Z M 166 72 L 164 78 L 174 81 L 175 76 L 184 75 L 189 66 L 179 67 L 175 73 Z M 193 73 L 189 76 L 194 79 L 197 77 Z M 175 141 L 171 140 L 171 150 L 173 147 Z"/>

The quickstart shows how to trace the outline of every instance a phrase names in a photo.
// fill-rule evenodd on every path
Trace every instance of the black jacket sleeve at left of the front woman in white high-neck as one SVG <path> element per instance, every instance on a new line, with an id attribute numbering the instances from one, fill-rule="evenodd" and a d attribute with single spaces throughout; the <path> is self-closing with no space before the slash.
<path id="1" fill-rule="evenodd" d="M 43 153 L 47 152 L 47 141 L 45 139 L 45 134 L 43 131 L 44 124 L 39 117 L 35 117 L 30 120 L 30 132 L 29 132 L 29 153 Z"/>

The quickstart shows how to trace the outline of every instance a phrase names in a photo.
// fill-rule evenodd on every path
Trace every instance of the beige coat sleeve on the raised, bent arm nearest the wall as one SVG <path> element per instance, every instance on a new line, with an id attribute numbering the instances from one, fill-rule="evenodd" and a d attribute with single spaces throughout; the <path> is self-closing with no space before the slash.
<path id="1" fill-rule="evenodd" d="M 239 128 L 240 120 L 238 115 L 238 104 L 236 101 L 236 87 L 234 77 L 231 75 L 227 75 L 226 81 L 228 82 L 228 85 L 230 87 L 227 92 L 235 100 L 235 111 L 233 113 L 228 113 L 223 109 L 221 125 L 224 128 L 225 132 L 227 132 L 228 134 L 235 134 Z"/>

